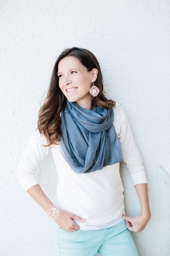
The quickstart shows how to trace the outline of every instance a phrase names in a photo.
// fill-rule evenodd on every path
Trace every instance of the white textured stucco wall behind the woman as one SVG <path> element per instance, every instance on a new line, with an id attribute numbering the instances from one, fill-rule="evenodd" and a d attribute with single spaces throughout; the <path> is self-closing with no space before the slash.
<path id="1" fill-rule="evenodd" d="M 0 15 L 0 255 L 56 255 L 55 224 L 21 188 L 15 169 L 55 60 L 72 46 L 97 56 L 105 91 L 122 104 L 146 167 L 152 218 L 133 234 L 139 255 L 170 255 L 170 2 L 14 0 L 1 1 Z M 138 215 L 124 165 L 121 175 L 126 213 Z M 37 176 L 52 199 L 57 176 L 51 155 Z"/>

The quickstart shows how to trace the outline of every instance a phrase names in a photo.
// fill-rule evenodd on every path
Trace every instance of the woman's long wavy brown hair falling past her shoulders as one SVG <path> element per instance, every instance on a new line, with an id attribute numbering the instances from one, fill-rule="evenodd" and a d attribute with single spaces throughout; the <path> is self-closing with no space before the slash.
<path id="1" fill-rule="evenodd" d="M 61 136 L 61 110 L 65 106 L 66 98 L 58 85 L 58 63 L 67 56 L 76 57 L 88 71 L 96 68 L 98 70 L 97 79 L 94 85 L 99 88 L 100 93 L 96 97 L 92 97 L 92 108 L 100 106 L 104 109 L 110 109 L 115 105 L 115 101 L 108 100 L 103 94 L 102 73 L 97 58 L 90 51 L 73 47 L 65 49 L 57 58 L 50 80 L 47 97 L 39 110 L 38 127 L 41 134 L 44 134 L 48 141 L 48 145 L 58 144 Z"/>

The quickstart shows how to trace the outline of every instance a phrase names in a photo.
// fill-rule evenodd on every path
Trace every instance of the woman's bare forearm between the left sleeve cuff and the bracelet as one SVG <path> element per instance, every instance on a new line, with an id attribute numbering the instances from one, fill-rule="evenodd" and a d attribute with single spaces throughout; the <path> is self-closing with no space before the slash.
<path id="1" fill-rule="evenodd" d="M 52 208 L 53 203 L 44 194 L 40 185 L 34 185 L 27 190 L 27 193 L 42 207 L 46 212 Z"/>

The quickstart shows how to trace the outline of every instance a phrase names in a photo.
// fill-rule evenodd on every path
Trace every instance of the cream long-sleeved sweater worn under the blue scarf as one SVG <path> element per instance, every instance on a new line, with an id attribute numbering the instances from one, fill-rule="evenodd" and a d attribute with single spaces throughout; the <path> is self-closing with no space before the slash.
<path id="1" fill-rule="evenodd" d="M 134 186 L 147 183 L 128 120 L 118 103 L 114 108 L 114 127 L 121 142 L 123 161 Z M 107 224 L 112 226 L 111 223 L 114 225 L 120 220 L 124 212 L 124 196 L 119 163 L 95 172 L 77 174 L 63 158 L 61 145 L 43 147 L 46 143 L 45 137 L 34 130 L 16 172 L 23 188 L 27 191 L 38 184 L 34 172 L 51 150 L 58 174 L 54 203 L 63 210 L 85 218 L 84 223 L 76 222 L 83 230 L 103 227 L 103 224 L 105 227 L 108 227 Z"/>

